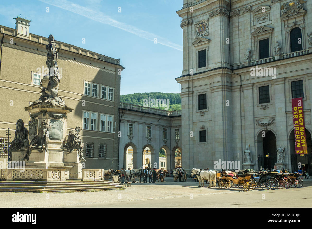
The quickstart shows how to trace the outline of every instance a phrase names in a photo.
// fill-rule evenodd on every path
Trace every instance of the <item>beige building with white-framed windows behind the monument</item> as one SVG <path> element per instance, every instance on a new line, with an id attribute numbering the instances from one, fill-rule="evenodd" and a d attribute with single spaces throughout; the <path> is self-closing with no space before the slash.
<path id="1" fill-rule="evenodd" d="M 40 80 L 46 74 L 45 36 L 29 33 L 31 22 L 17 17 L 16 28 L 0 26 L 0 136 L 6 151 L 5 130 L 14 138 L 16 122 L 28 129 L 29 106 L 40 97 Z M 83 44 L 82 44 L 83 45 Z M 61 83 L 59 96 L 73 112 L 68 114 L 68 131 L 80 126 L 87 168 L 107 169 L 118 165 L 120 72 L 119 59 L 56 41 Z M 42 66 L 44 65 L 44 66 Z M 2 159 L 5 154 L 2 154 Z M 7 156 L 6 156 L 7 158 Z"/>

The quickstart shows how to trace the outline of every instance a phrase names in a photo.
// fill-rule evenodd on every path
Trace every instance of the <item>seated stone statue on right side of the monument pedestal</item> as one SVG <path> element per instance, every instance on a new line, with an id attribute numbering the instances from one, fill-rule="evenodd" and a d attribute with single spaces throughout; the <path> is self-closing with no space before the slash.
<path id="1" fill-rule="evenodd" d="M 68 140 L 65 144 L 65 148 L 68 150 L 68 152 L 72 152 L 73 150 L 77 150 L 77 154 L 79 156 L 79 160 L 80 161 L 86 161 L 83 158 L 83 142 L 80 139 L 79 136 L 79 132 L 80 132 L 80 127 L 76 126 L 75 130 L 73 131 L 69 131 L 68 133 Z"/>

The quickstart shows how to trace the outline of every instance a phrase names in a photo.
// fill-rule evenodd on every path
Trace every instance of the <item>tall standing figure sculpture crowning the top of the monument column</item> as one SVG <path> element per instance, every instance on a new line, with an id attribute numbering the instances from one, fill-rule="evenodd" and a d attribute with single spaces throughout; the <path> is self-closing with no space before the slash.
<path id="1" fill-rule="evenodd" d="M 46 65 L 49 68 L 49 74 L 44 75 L 40 81 L 42 86 L 41 96 L 32 105 L 45 102 L 58 107 L 65 107 L 64 100 L 58 96 L 58 88 L 60 83 L 60 74 L 57 67 L 57 49 L 53 35 L 49 36 L 49 44 L 46 45 L 48 54 L 46 55 Z"/>

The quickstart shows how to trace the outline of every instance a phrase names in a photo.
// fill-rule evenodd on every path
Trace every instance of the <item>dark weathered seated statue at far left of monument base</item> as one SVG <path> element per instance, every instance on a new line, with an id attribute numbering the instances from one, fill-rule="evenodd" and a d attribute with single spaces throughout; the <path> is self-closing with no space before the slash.
<path id="1" fill-rule="evenodd" d="M 12 160 L 12 152 L 21 149 L 23 146 L 28 146 L 28 130 L 24 126 L 24 122 L 22 119 L 17 120 L 16 129 L 15 129 L 15 137 L 13 141 L 11 141 L 9 147 L 9 161 Z"/>

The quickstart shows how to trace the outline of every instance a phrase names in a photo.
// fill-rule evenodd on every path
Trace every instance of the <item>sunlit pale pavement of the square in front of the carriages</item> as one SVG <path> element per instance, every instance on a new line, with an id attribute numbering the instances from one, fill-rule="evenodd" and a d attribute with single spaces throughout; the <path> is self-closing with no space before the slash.
<path id="1" fill-rule="evenodd" d="M 205 184 L 207 185 L 207 184 Z M 312 181 L 302 188 L 243 192 L 186 182 L 135 183 L 124 190 L 71 193 L 0 192 L 1 207 L 310 207 Z M 265 194 L 265 196 L 263 196 Z"/>

